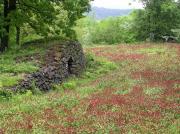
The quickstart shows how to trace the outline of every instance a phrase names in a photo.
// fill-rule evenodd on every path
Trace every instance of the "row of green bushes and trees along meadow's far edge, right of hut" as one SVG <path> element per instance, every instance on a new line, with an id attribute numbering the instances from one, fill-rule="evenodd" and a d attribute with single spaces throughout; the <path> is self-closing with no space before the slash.
<path id="1" fill-rule="evenodd" d="M 140 41 L 180 40 L 180 1 L 142 0 L 144 9 L 129 16 L 97 21 L 93 16 L 78 21 L 83 44 L 116 44 Z"/>

